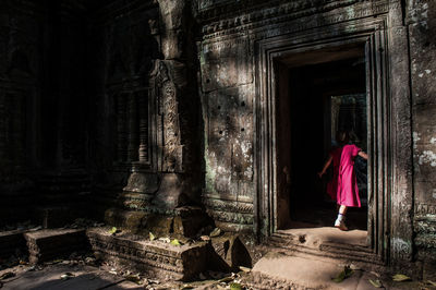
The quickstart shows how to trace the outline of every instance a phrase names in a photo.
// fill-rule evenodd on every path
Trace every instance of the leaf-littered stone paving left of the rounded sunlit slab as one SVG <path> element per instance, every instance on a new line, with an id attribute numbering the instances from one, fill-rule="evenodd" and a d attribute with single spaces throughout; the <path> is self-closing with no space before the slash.
<path id="1" fill-rule="evenodd" d="M 36 268 L 27 265 L 15 266 L 1 270 L 0 277 L 4 274 L 12 277 L 0 281 L 1 290 L 230 289 L 231 283 L 240 283 L 242 289 L 247 289 L 249 287 L 240 281 L 242 278 L 250 280 L 246 278 L 250 274 L 244 271 L 228 275 L 209 271 L 205 273 L 202 279 L 191 282 L 159 280 L 125 275 L 121 269 L 106 266 L 66 265 L 64 261 Z"/>

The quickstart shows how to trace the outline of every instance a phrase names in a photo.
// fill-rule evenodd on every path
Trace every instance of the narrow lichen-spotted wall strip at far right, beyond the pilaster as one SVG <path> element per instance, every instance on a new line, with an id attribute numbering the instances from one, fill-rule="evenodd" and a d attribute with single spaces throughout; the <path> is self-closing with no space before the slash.
<path id="1" fill-rule="evenodd" d="M 436 3 L 407 1 L 413 114 L 414 243 L 424 276 L 436 265 Z M 433 268 L 432 268 L 433 267 Z M 432 274 L 433 270 L 433 274 Z"/>

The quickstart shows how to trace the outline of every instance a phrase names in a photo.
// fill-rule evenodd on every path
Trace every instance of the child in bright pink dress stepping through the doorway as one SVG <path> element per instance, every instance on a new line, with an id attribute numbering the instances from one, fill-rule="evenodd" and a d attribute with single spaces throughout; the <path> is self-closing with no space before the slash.
<path id="1" fill-rule="evenodd" d="M 327 168 L 331 164 L 334 165 L 334 178 L 327 184 L 327 193 L 339 206 L 335 227 L 346 231 L 348 230 L 344 222 L 347 208 L 350 206 L 361 207 L 354 171 L 354 159 L 359 155 L 367 160 L 367 155 L 354 144 L 349 144 L 350 137 L 348 132 L 339 132 L 337 134 L 337 142 L 339 146 L 330 150 L 329 158 L 318 176 L 322 178 L 326 173 Z"/>

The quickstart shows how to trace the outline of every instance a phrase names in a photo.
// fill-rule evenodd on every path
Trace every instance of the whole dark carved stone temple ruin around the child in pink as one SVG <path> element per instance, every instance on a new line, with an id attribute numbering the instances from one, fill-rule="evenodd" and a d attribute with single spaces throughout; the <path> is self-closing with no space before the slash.
<path id="1" fill-rule="evenodd" d="M 0 257 L 192 279 L 270 244 L 434 277 L 435 39 L 431 0 L 0 0 Z M 370 155 L 365 244 L 304 247 L 339 129 Z"/>

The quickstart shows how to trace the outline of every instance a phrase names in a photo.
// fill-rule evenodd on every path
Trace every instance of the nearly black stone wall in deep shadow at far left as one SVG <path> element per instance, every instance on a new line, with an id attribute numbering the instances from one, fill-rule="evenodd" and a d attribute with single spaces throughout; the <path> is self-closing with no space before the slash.
<path id="1" fill-rule="evenodd" d="M 9 220 L 87 193 L 86 9 L 2 1 L 1 205 Z"/>

